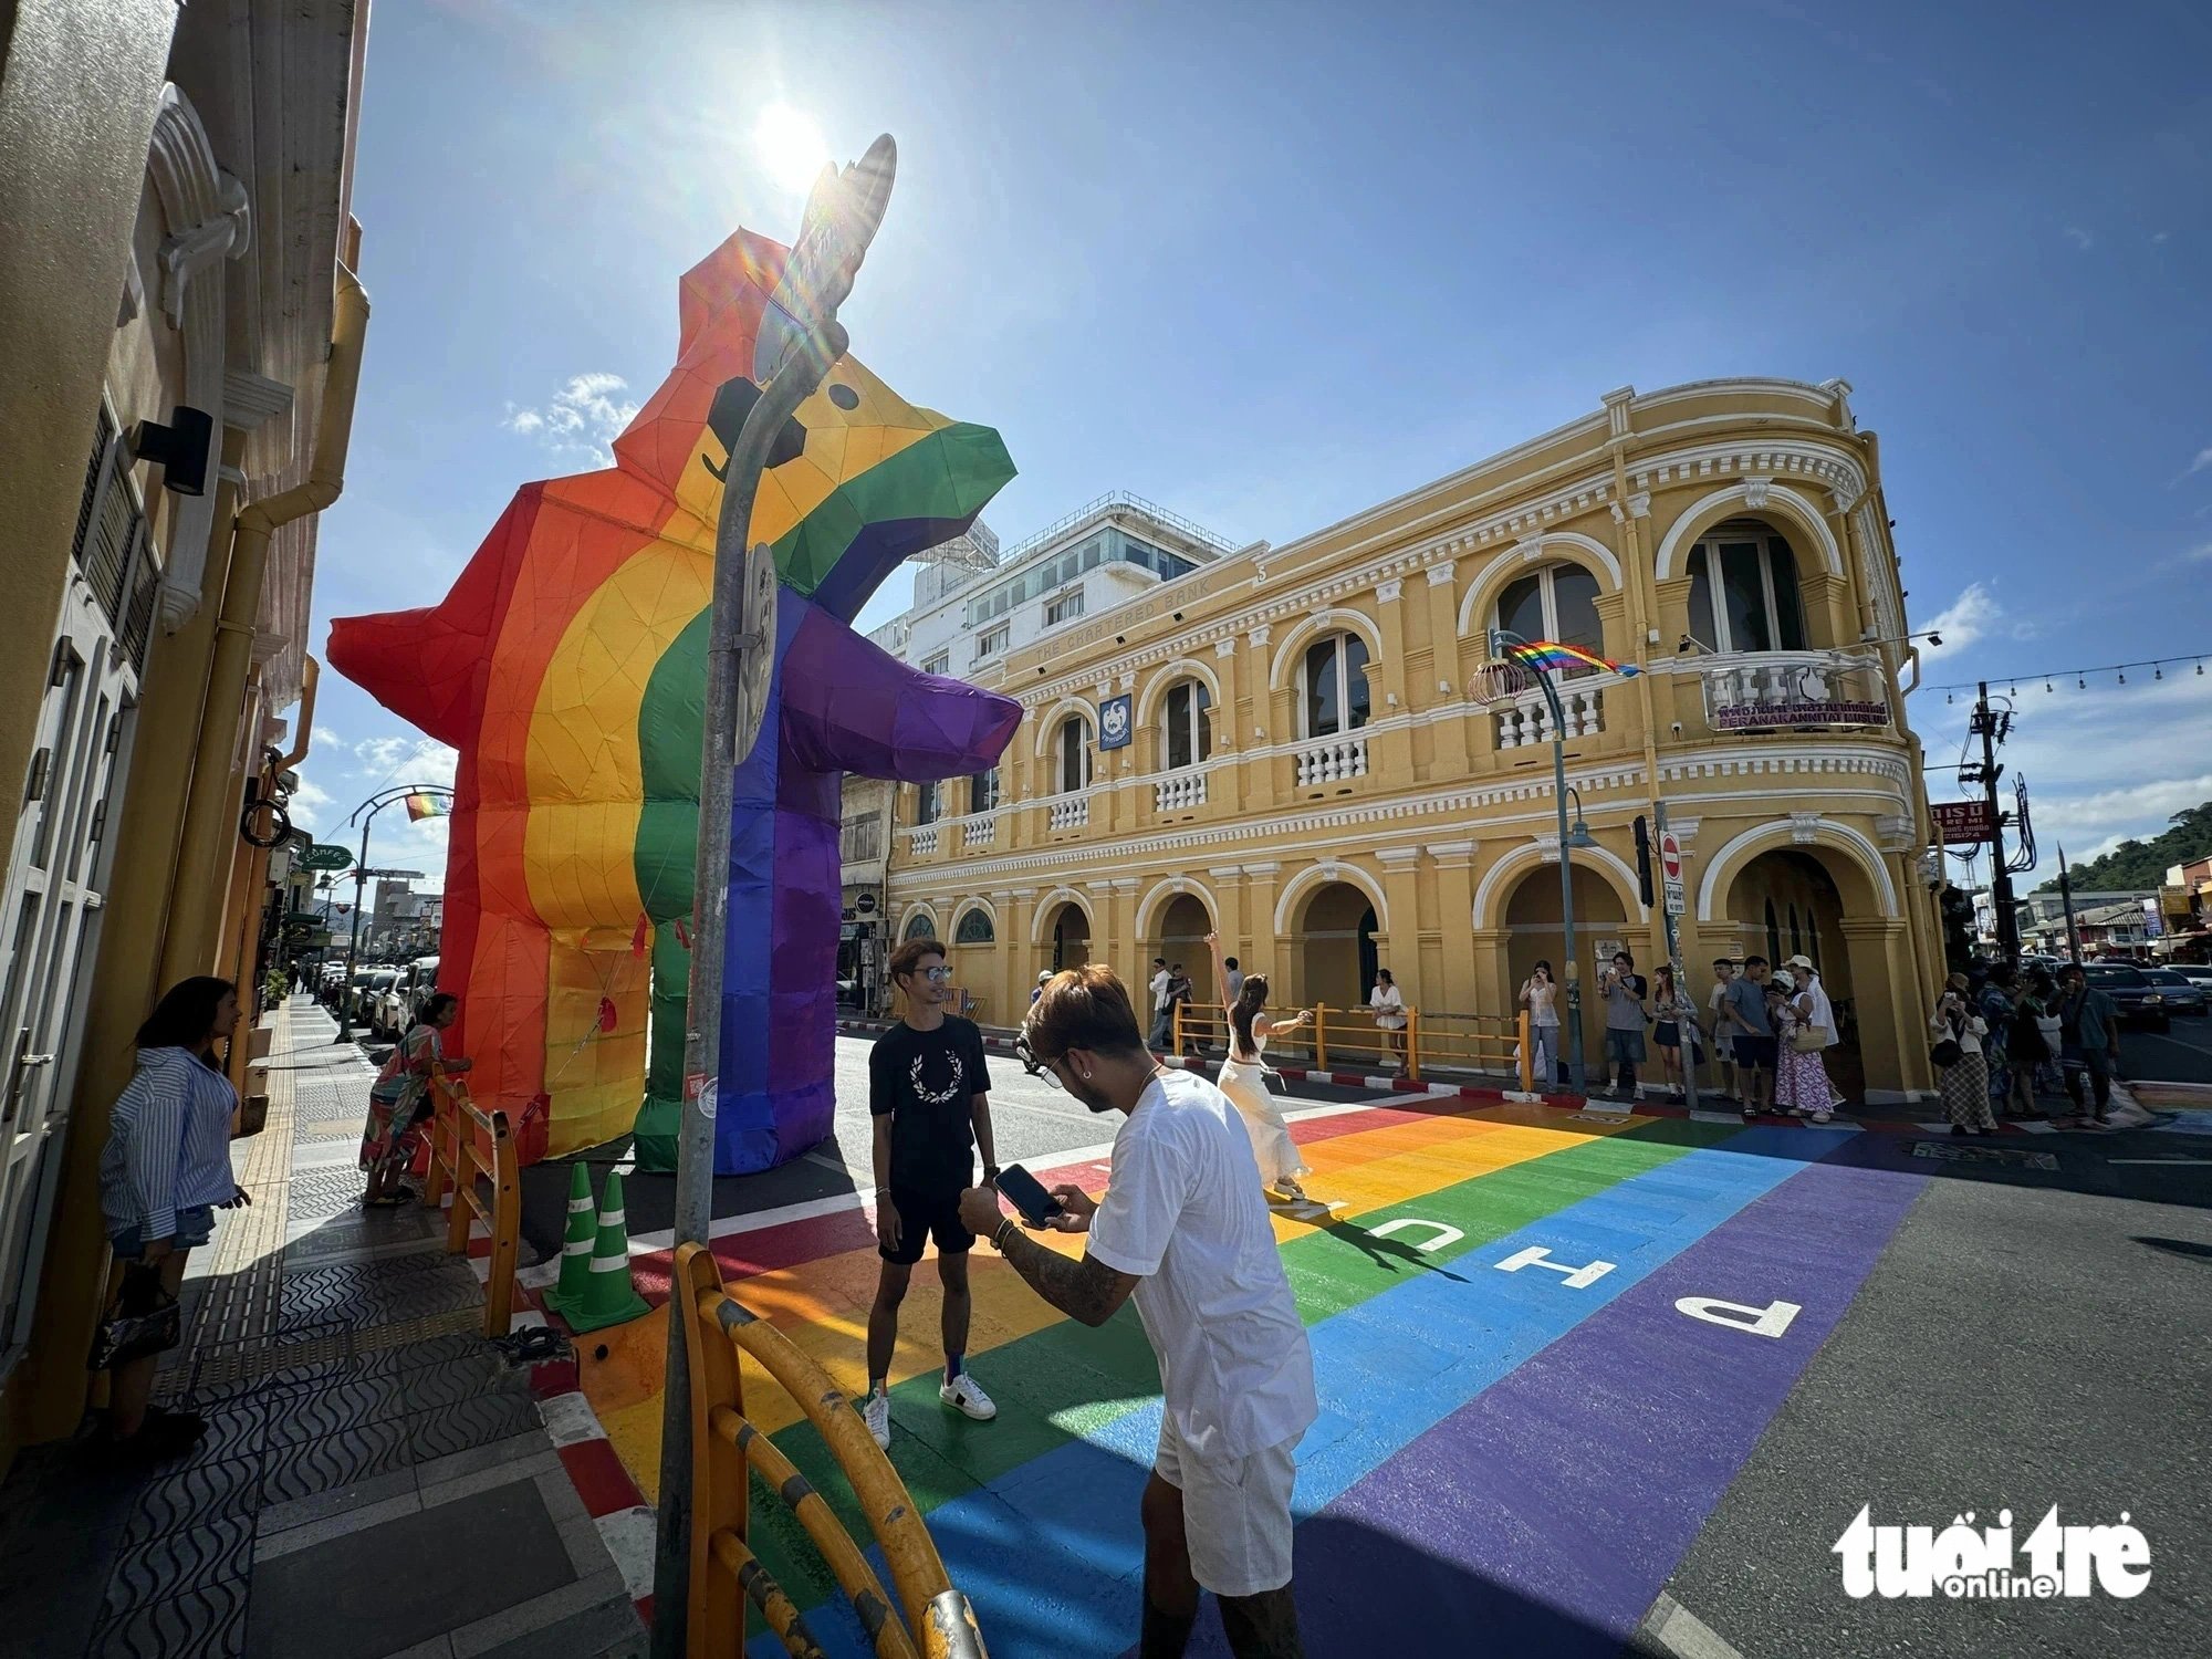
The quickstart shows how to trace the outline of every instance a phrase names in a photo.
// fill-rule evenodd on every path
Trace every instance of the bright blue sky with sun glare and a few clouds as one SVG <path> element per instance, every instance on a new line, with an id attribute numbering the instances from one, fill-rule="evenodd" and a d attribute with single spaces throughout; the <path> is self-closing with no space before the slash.
<path id="1" fill-rule="evenodd" d="M 2203 650 L 2208 46 L 2183 0 L 376 0 L 316 644 L 436 602 L 520 484 L 593 465 L 668 369 L 679 272 L 790 234 L 754 146 L 783 102 L 838 157 L 898 137 L 843 314 L 1004 434 L 1009 542 L 1106 489 L 1285 542 L 1624 383 L 1843 376 L 1944 626 L 1929 679 Z M 2212 799 L 2212 675 L 2146 681 L 2022 681 L 2046 869 Z M 1949 759 L 1964 703 L 1913 706 Z M 319 832 L 451 772 L 334 677 L 316 723 Z M 376 860 L 442 869 L 396 816 Z"/>

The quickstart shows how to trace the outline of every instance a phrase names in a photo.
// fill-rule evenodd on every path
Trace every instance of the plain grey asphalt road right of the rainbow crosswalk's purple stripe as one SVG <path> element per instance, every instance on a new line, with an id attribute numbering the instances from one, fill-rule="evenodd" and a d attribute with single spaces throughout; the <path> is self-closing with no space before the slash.
<path id="1" fill-rule="evenodd" d="M 2212 1141 L 2004 1141 L 2057 1170 L 1911 1148 L 1854 1148 L 1871 1168 L 1940 1172 L 1668 1586 L 1725 1646 L 1639 1652 L 2212 1650 Z M 1851 1599 L 1834 1546 L 1863 1504 L 1874 1524 L 1936 1531 L 2011 1509 L 2020 1542 L 2053 1504 L 2062 1524 L 2126 1513 L 2150 1542 L 2150 1584 L 2132 1599 Z"/>

